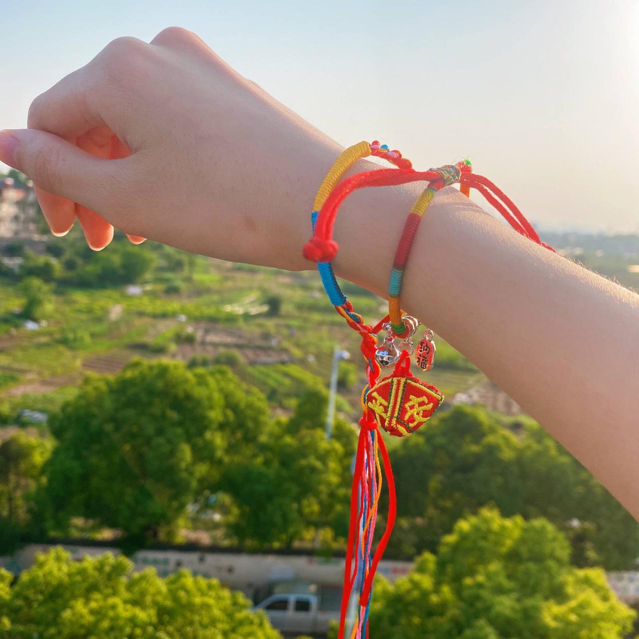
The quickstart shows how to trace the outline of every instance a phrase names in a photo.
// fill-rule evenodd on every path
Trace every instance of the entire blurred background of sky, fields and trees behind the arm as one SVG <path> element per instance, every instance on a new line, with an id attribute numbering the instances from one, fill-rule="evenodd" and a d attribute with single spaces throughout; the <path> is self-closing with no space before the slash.
<path id="1" fill-rule="evenodd" d="M 6 6 L 0 128 L 173 24 L 341 144 L 472 158 L 567 259 L 639 288 L 636 0 Z M 358 353 L 316 273 L 92 252 L 0 164 L 0 636 L 336 636 Z M 441 340 L 429 381 L 447 402 L 389 442 L 372 636 L 636 636 L 633 518 Z"/>

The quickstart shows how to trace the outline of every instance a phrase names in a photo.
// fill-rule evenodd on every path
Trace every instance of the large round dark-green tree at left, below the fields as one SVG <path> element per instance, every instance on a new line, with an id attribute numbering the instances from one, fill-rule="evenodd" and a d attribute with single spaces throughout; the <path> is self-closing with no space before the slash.
<path id="1" fill-rule="evenodd" d="M 121 529 L 130 549 L 173 538 L 187 506 L 225 463 L 251 454 L 266 424 L 264 397 L 223 367 L 136 360 L 114 378 L 88 376 L 50 420 L 47 524 L 65 531 L 81 516 Z"/>

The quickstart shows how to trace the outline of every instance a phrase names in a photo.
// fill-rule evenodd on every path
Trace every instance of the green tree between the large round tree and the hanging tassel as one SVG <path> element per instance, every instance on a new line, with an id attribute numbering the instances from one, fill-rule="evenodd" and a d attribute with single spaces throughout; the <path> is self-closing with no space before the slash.
<path id="1" fill-rule="evenodd" d="M 290 545 L 327 528 L 346 535 L 355 432 L 338 419 L 327 440 L 326 409 L 325 393 L 307 392 L 288 420 L 273 424 L 258 455 L 227 467 L 222 490 L 235 507 L 227 528 L 240 543 Z"/>

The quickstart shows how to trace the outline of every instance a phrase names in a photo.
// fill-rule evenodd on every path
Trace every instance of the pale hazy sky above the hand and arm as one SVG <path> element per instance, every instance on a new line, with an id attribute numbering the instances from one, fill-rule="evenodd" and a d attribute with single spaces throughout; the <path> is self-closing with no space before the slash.
<path id="1" fill-rule="evenodd" d="M 545 229 L 639 232 L 639 0 L 0 4 L 0 128 L 113 38 L 178 25 L 342 144 L 468 156 Z"/>

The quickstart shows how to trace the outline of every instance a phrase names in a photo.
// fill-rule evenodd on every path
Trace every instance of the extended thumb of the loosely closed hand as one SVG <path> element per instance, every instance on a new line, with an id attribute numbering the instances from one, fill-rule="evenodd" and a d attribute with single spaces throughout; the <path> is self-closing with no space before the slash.
<path id="1" fill-rule="evenodd" d="M 114 187 L 123 184 L 127 160 L 96 158 L 57 135 L 22 128 L 0 131 L 0 161 L 47 193 L 108 215 L 117 206 Z"/>

